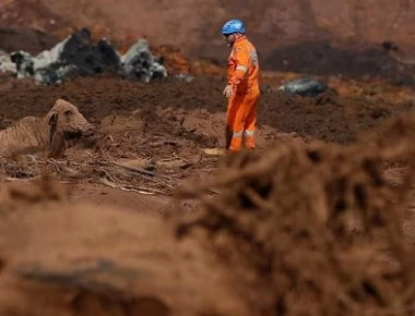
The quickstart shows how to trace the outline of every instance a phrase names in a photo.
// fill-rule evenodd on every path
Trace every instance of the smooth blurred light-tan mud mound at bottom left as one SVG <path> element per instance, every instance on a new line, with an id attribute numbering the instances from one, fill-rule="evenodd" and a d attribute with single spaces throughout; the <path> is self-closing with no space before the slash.
<path id="1" fill-rule="evenodd" d="M 46 200 L 0 222 L 1 315 L 251 315 L 227 268 L 179 245 L 171 222 Z"/>

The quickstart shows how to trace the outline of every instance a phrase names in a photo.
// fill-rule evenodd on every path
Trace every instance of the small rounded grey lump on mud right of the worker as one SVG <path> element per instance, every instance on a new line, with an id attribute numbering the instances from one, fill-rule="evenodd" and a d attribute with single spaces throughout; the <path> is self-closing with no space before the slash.
<path id="1" fill-rule="evenodd" d="M 278 90 L 303 97 L 316 97 L 329 89 L 324 83 L 313 78 L 296 78 L 278 87 Z"/>

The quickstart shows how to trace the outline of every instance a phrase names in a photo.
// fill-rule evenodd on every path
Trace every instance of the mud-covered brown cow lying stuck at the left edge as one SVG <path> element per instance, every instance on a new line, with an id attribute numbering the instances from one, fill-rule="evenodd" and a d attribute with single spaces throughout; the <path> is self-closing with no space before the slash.
<path id="1" fill-rule="evenodd" d="M 45 153 L 60 158 L 81 136 L 91 136 L 94 127 L 72 104 L 58 99 L 43 118 L 25 117 L 0 132 L 0 157 Z"/>

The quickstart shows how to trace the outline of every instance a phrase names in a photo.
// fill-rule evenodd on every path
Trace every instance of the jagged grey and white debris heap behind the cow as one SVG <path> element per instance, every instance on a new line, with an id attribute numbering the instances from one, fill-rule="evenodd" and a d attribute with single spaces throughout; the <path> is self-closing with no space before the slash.
<path id="1" fill-rule="evenodd" d="M 31 77 L 46 85 L 61 83 L 75 75 L 90 76 L 105 72 L 145 83 L 167 76 L 162 60 L 152 56 L 145 39 L 140 39 L 121 56 L 106 38 L 94 44 L 86 28 L 73 33 L 36 57 L 26 51 L 12 52 L 11 61 L 16 66 L 17 78 Z M 3 66 L 0 65 L 0 69 Z"/>

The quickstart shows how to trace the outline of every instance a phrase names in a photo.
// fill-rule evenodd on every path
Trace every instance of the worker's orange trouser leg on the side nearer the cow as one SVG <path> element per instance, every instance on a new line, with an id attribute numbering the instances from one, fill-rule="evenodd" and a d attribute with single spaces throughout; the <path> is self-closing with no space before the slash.
<path id="1" fill-rule="evenodd" d="M 242 146 L 244 122 L 246 118 L 242 107 L 244 97 L 237 94 L 228 104 L 226 148 L 232 151 L 237 151 Z"/>

